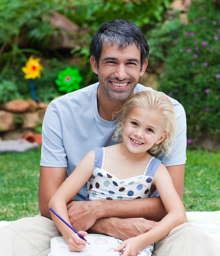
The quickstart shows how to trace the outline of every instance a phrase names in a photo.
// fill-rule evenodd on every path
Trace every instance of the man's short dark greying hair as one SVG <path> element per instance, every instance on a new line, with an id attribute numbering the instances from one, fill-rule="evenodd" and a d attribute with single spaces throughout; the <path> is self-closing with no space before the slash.
<path id="1" fill-rule="evenodd" d="M 90 54 L 94 56 L 98 67 L 103 43 L 117 44 L 121 49 L 135 44 L 141 53 L 141 67 L 149 53 L 148 43 L 142 31 L 129 20 L 106 21 L 95 32 L 90 43 Z"/>

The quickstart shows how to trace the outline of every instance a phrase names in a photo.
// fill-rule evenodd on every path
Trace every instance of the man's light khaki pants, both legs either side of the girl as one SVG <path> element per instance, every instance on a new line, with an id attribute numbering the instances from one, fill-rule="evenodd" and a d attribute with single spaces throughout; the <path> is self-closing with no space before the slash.
<path id="1" fill-rule="evenodd" d="M 61 236 L 41 215 L 22 218 L 0 229 L 1 256 L 47 256 L 50 238 Z M 220 256 L 220 248 L 200 229 L 184 223 L 155 243 L 153 256 Z"/>

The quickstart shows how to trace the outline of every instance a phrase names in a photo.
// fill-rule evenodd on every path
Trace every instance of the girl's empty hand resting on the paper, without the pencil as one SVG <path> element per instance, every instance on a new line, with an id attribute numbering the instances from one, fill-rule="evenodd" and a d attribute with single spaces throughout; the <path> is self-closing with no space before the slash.
<path id="1" fill-rule="evenodd" d="M 119 245 L 117 248 L 114 248 L 114 251 L 120 252 L 121 254 L 123 254 L 123 256 L 137 256 L 141 251 L 141 249 L 144 248 L 140 246 L 140 243 L 138 240 L 139 239 L 137 237 L 124 240 L 121 243 L 121 245 Z"/>

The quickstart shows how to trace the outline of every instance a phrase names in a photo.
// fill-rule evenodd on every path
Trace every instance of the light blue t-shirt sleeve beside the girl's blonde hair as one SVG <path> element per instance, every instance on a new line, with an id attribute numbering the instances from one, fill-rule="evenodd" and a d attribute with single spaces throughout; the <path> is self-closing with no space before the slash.
<path id="1" fill-rule="evenodd" d="M 186 113 L 178 101 L 175 101 L 173 106 L 177 117 L 176 145 L 169 157 L 159 157 L 166 167 L 186 163 Z"/>

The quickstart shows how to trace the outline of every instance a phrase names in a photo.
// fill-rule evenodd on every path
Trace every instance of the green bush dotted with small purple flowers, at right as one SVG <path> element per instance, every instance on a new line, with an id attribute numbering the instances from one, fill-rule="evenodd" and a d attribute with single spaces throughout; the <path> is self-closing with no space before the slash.
<path id="1" fill-rule="evenodd" d="M 193 1 L 187 16 L 187 25 L 177 19 L 157 28 L 159 52 L 153 54 L 165 63 L 159 90 L 182 103 L 188 143 L 196 145 L 207 135 L 220 134 L 220 7 L 214 1 Z"/>

